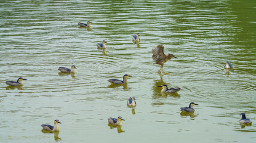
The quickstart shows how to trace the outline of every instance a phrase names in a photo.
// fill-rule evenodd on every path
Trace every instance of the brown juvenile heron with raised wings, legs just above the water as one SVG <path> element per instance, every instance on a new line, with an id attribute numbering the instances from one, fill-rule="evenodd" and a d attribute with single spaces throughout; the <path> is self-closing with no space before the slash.
<path id="1" fill-rule="evenodd" d="M 177 58 L 175 57 L 173 54 L 168 54 L 168 55 L 165 55 L 164 54 L 164 45 L 158 45 L 154 48 L 152 48 L 152 59 L 155 61 L 155 63 L 153 64 L 159 64 L 161 65 L 161 69 L 159 71 L 162 70 L 162 67 L 164 67 L 164 63 L 168 60 L 170 60 L 171 58 Z M 162 70 L 162 72 L 164 72 Z M 164 74 L 168 74 L 168 73 L 165 73 Z"/>

